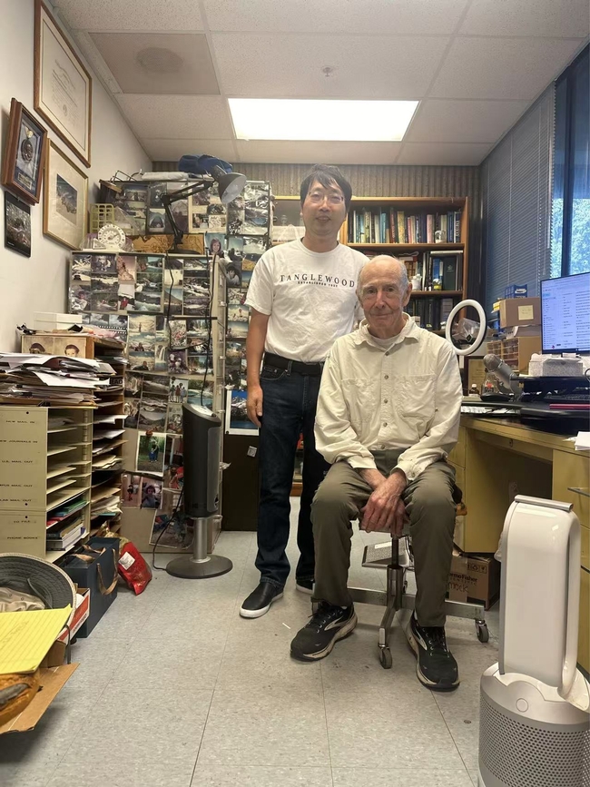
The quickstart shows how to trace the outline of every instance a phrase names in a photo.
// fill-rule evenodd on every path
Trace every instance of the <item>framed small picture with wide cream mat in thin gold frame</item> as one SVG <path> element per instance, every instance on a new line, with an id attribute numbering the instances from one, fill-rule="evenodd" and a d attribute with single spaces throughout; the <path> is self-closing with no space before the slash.
<path id="1" fill-rule="evenodd" d="M 88 176 L 54 143 L 47 147 L 43 232 L 68 249 L 80 249 L 86 236 Z"/>

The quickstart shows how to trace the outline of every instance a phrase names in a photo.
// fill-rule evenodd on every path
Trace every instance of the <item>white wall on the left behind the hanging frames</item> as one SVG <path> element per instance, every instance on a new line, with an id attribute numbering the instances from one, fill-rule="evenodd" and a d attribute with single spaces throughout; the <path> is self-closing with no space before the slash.
<path id="1" fill-rule="evenodd" d="M 2 151 L 8 133 L 13 96 L 34 113 L 33 54 L 34 0 L 2 0 L 0 25 L 0 112 Z M 86 64 L 88 67 L 88 64 Z M 92 74 L 92 70 L 88 69 Z M 39 120 L 44 123 L 43 118 Z M 46 125 L 46 123 L 44 123 Z M 151 169 L 123 115 L 93 74 L 92 166 L 89 169 L 48 129 L 49 138 L 88 175 L 89 203 L 96 199 L 101 178 L 116 170 L 138 172 Z M 33 325 L 34 311 L 67 311 L 66 278 L 69 251 L 43 234 L 43 198 L 31 208 L 31 259 L 4 246 L 4 195 L 0 204 L 0 350 L 16 347 L 15 326 Z"/>

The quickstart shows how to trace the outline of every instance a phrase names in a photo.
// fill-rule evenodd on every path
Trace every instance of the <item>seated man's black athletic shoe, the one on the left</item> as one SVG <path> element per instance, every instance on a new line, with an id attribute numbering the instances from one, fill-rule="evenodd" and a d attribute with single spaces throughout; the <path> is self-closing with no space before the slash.
<path id="1" fill-rule="evenodd" d="M 290 654 L 300 661 L 312 662 L 327 656 L 339 639 L 352 634 L 357 625 L 354 606 L 347 609 L 325 601 L 308 625 L 304 626 L 290 644 Z"/>

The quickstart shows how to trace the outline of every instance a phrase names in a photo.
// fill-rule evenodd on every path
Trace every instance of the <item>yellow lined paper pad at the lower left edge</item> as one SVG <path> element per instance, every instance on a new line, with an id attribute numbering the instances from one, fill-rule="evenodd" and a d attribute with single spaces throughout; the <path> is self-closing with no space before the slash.
<path id="1" fill-rule="evenodd" d="M 34 673 L 71 612 L 66 606 L 0 613 L 0 674 Z"/>

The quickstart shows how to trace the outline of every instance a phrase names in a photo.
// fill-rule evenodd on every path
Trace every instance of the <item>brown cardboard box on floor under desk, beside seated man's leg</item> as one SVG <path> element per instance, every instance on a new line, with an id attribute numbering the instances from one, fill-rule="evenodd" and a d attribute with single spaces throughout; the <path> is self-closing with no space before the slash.
<path id="1" fill-rule="evenodd" d="M 464 555 L 453 551 L 447 597 L 451 601 L 483 604 L 486 609 L 500 595 L 500 564 L 493 556 Z"/>

